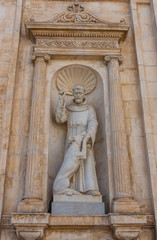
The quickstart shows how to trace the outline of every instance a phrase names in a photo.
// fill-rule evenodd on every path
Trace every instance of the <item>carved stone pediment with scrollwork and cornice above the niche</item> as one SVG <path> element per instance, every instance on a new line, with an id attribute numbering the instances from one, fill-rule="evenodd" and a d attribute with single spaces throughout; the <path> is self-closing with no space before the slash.
<path id="1" fill-rule="evenodd" d="M 99 51 L 100 54 L 101 49 L 118 49 L 129 29 L 125 21 L 110 23 L 98 19 L 77 2 L 53 19 L 43 22 L 30 19 L 25 26 L 27 36 L 36 47 L 44 47 L 49 52 L 50 49 L 51 52 L 77 49 Z"/>

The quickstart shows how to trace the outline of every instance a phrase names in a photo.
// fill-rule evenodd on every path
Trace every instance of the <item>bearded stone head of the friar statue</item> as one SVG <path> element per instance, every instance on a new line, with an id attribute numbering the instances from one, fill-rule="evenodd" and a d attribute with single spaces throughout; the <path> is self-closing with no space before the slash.
<path id="1" fill-rule="evenodd" d="M 73 87 L 73 96 L 74 101 L 77 104 L 81 104 L 84 102 L 85 99 L 85 89 L 84 86 L 81 84 L 77 84 Z"/>

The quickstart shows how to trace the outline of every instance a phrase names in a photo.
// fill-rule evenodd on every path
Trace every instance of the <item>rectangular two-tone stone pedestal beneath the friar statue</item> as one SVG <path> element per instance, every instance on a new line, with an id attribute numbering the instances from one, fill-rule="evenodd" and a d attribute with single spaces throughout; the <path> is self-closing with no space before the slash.
<path id="1" fill-rule="evenodd" d="M 53 215 L 104 215 L 105 204 L 102 196 L 90 195 L 54 195 L 51 204 Z"/>

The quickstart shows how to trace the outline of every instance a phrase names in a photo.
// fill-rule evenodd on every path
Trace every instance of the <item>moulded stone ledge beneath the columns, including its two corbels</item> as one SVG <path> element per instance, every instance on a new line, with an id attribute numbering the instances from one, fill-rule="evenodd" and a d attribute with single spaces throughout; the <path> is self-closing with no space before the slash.
<path id="1" fill-rule="evenodd" d="M 7 221 L 5 218 L 7 217 Z M 111 229 L 113 236 L 121 240 L 135 240 L 143 228 L 154 227 L 153 215 L 145 214 L 106 214 L 104 216 L 55 216 L 49 213 L 15 213 L 2 216 L 2 229 L 14 226 L 20 239 L 37 240 L 42 238 L 44 230 L 53 229 L 90 229 L 103 227 Z"/>

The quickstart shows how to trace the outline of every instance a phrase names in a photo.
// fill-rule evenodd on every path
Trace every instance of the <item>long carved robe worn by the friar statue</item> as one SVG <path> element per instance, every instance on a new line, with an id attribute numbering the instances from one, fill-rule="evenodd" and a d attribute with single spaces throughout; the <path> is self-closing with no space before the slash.
<path id="1" fill-rule="evenodd" d="M 72 176 L 70 187 L 85 194 L 88 192 L 90 194 L 90 191 L 99 191 L 93 152 L 98 122 L 93 106 L 86 101 L 82 104 L 73 102 L 69 106 L 60 106 L 58 102 L 55 117 L 57 123 L 67 122 L 66 149 L 70 144 L 70 136 L 79 135 L 84 131 L 90 136 L 87 143 L 87 158 L 81 160 L 78 170 Z"/>

